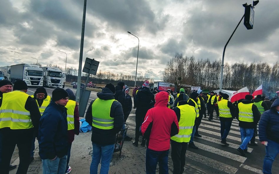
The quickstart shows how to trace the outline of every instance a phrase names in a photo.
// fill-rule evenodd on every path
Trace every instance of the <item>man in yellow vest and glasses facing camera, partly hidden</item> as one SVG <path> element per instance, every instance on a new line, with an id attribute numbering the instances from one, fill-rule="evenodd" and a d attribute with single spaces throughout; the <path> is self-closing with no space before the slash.
<path id="1" fill-rule="evenodd" d="M 47 108 L 47 106 L 50 103 L 51 97 L 47 95 L 47 91 L 44 87 L 38 87 L 36 91 L 34 92 L 34 95 L 31 95 L 33 97 L 39 107 L 39 111 L 41 116 L 44 113 L 44 110 Z M 30 163 L 34 160 L 34 150 L 35 150 L 35 139 L 36 136 L 34 135 L 34 138 L 32 140 L 32 148 L 30 153 Z"/>

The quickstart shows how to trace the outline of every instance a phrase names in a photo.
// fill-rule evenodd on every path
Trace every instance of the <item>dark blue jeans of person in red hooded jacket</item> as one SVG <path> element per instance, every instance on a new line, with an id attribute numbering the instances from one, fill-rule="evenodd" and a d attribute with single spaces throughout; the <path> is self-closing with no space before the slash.
<path id="1" fill-rule="evenodd" d="M 145 166 L 146 166 L 146 174 L 155 174 L 157 163 L 159 162 L 159 173 L 160 174 L 168 174 L 168 156 L 170 150 L 167 151 L 153 151 L 149 148 L 146 149 L 146 158 L 145 158 Z"/>

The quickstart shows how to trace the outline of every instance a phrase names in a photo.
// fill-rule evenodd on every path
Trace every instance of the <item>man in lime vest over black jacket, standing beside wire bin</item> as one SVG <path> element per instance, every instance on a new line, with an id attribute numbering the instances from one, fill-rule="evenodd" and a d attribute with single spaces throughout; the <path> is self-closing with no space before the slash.
<path id="1" fill-rule="evenodd" d="M 116 134 L 124 124 L 122 105 L 114 99 L 114 93 L 114 85 L 107 84 L 102 92 L 97 93 L 98 98 L 89 104 L 85 115 L 87 123 L 92 126 L 93 155 L 90 173 L 98 172 L 101 158 L 100 173 L 109 172 Z"/>

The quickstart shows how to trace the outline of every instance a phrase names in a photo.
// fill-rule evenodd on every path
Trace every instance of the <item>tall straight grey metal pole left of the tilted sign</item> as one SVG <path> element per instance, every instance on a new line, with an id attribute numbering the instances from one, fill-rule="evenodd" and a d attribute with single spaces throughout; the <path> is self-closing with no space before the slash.
<path id="1" fill-rule="evenodd" d="M 79 102 L 79 95 L 80 95 L 86 4 L 87 4 L 87 0 L 84 0 L 83 18 L 82 18 L 82 36 L 81 36 L 81 40 L 80 40 L 80 52 L 79 52 L 79 71 L 78 71 L 78 76 L 77 76 L 77 93 L 76 93 L 77 102 Z"/>

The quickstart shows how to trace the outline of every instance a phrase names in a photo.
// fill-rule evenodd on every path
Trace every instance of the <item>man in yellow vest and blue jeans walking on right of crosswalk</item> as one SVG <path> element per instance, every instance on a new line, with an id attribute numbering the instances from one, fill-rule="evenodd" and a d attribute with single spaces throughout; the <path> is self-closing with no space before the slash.
<path id="1" fill-rule="evenodd" d="M 260 112 L 255 104 L 253 104 L 253 96 L 246 95 L 235 108 L 235 116 L 239 121 L 241 144 L 237 149 L 242 156 L 247 152 L 247 144 L 254 134 L 255 125 L 260 120 Z"/>

